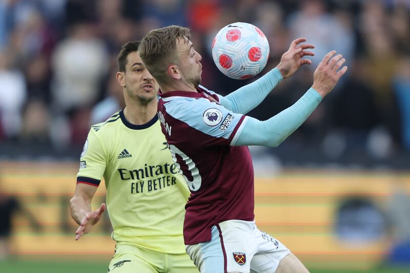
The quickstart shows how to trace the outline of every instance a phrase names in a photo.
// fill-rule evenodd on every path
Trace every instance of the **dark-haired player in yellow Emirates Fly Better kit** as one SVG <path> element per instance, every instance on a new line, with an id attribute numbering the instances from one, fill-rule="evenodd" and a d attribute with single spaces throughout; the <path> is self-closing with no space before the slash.
<path id="1" fill-rule="evenodd" d="M 198 272 L 186 254 L 182 223 L 189 190 L 166 146 L 157 116 L 158 84 L 142 64 L 139 42 L 118 55 L 117 79 L 126 108 L 93 125 L 80 157 L 71 216 L 75 239 L 91 231 L 104 213 L 91 211 L 102 177 L 116 241 L 108 271 Z"/>

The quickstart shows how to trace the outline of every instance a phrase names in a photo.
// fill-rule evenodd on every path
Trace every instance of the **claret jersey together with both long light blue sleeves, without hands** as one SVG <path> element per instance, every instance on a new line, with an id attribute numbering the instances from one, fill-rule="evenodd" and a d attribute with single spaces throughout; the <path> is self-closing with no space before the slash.
<path id="1" fill-rule="evenodd" d="M 254 219 L 254 173 L 247 145 L 276 147 L 321 101 L 310 88 L 293 106 L 270 119 L 245 116 L 282 80 L 274 68 L 226 97 L 199 86 L 197 92 L 160 94 L 158 118 L 174 162 L 191 190 L 186 205 L 186 244 L 207 242 L 211 227 Z"/>

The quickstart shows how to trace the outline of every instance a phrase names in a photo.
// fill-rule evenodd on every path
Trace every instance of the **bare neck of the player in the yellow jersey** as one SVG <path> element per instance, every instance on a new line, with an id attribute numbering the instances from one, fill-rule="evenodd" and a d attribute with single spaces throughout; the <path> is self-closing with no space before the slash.
<path id="1" fill-rule="evenodd" d="M 130 97 L 125 100 L 126 108 L 124 116 L 134 125 L 145 124 L 157 114 L 157 99 L 154 98 L 148 104 L 141 103 Z"/>

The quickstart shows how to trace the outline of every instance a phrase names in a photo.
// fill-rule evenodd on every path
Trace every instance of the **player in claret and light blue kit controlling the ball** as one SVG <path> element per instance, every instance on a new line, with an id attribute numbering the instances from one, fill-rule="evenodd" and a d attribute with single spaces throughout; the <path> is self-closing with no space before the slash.
<path id="1" fill-rule="evenodd" d="M 259 121 L 244 114 L 301 65 L 313 45 L 295 39 L 276 68 L 226 97 L 199 85 L 201 55 L 190 31 L 169 26 L 148 33 L 140 56 L 159 83 L 158 116 L 174 161 L 189 185 L 183 229 L 186 250 L 202 273 L 307 272 L 281 242 L 254 223 L 254 173 L 247 145 L 277 146 L 317 107 L 347 67 L 326 54 L 313 86 L 293 106 Z M 333 57 L 333 58 L 332 58 Z"/>

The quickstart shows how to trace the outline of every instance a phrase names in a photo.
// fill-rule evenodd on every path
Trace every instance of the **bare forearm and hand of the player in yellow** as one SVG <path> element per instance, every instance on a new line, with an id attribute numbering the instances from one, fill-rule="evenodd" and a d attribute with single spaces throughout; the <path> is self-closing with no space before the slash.
<path id="1" fill-rule="evenodd" d="M 89 233 L 106 209 L 106 204 L 102 203 L 98 209 L 91 211 L 91 200 L 96 191 L 96 186 L 84 183 L 78 183 L 75 187 L 74 197 L 70 200 L 71 217 L 79 224 L 75 240 Z"/>

